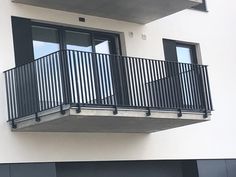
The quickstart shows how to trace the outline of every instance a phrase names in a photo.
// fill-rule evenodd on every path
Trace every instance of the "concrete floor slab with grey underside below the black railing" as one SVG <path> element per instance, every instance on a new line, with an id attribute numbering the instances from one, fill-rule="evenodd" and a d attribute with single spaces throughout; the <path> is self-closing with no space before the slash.
<path id="1" fill-rule="evenodd" d="M 16 129 L 20 132 L 112 132 L 112 133 L 152 133 L 185 125 L 205 122 L 203 113 L 183 112 L 178 117 L 177 111 L 151 110 L 147 116 L 145 109 L 118 108 L 82 108 L 80 113 L 76 108 L 64 107 L 65 114 L 59 108 L 54 108 L 35 115 L 16 120 Z"/>

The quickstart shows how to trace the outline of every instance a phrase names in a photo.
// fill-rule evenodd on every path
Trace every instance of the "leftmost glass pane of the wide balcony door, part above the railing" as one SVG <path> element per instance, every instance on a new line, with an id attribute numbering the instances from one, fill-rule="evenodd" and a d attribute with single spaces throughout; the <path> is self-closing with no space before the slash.
<path id="1" fill-rule="evenodd" d="M 34 58 L 40 58 L 60 49 L 56 29 L 33 26 L 32 27 Z"/>

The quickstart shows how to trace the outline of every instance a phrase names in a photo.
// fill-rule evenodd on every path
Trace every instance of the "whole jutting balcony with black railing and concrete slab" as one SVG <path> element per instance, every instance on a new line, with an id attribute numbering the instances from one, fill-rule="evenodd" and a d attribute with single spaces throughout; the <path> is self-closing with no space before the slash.
<path id="1" fill-rule="evenodd" d="M 13 131 L 150 133 L 213 109 L 204 65 L 61 50 L 5 78 Z"/>

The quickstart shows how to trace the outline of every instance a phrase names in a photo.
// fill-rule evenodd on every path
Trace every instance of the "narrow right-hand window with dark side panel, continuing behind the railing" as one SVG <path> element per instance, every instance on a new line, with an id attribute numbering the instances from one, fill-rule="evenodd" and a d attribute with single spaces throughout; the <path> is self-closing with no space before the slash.
<path id="1" fill-rule="evenodd" d="M 203 98 L 195 97 L 195 93 L 202 89 L 201 75 L 197 66 L 191 65 L 198 63 L 195 44 L 163 39 L 163 45 L 165 60 L 172 61 L 165 65 L 166 77 L 178 100 L 186 107 L 201 105 Z M 173 66 L 173 62 L 178 64 Z"/>

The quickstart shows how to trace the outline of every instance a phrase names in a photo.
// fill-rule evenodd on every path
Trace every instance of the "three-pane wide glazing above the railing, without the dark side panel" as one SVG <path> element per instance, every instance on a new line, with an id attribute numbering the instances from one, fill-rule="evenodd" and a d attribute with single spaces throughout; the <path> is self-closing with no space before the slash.
<path id="1" fill-rule="evenodd" d="M 34 58 L 38 59 L 61 49 L 116 54 L 116 34 L 67 28 L 32 22 Z M 101 38 L 102 36 L 102 38 Z"/>

